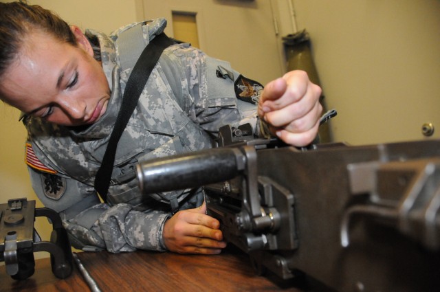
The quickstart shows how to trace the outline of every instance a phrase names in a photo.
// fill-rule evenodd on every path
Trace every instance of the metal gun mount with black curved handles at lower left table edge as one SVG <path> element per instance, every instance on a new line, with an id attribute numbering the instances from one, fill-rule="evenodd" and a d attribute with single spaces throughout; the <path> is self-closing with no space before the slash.
<path id="1" fill-rule="evenodd" d="M 34 231 L 35 217 L 50 219 L 53 230 L 50 241 L 42 241 Z M 25 280 L 34 274 L 34 252 L 50 253 L 52 272 L 64 279 L 72 273 L 72 249 L 60 216 L 48 208 L 36 208 L 35 201 L 10 199 L 0 204 L 0 261 L 14 280 Z"/>

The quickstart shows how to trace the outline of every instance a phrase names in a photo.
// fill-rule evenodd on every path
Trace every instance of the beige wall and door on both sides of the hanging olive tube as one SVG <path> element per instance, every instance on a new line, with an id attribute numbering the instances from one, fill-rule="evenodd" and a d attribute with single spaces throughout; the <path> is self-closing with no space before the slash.
<path id="1" fill-rule="evenodd" d="M 276 56 L 282 51 L 281 37 L 295 27 L 307 29 L 327 107 L 339 113 L 330 123 L 337 142 L 361 145 L 426 139 L 421 128 L 427 122 L 437 128 L 430 139 L 440 137 L 439 0 L 143 3 L 146 18 L 169 20 L 172 10 L 197 12 L 201 49 L 262 82 L 283 73 Z M 296 15 L 294 21 L 292 15 Z M 278 50 L 270 45 L 273 23 Z M 172 27 L 167 30 L 172 36 Z M 249 47 L 250 42 L 240 42 L 243 32 L 259 39 L 259 44 Z M 265 52 L 263 62 L 250 57 L 255 51 Z"/>

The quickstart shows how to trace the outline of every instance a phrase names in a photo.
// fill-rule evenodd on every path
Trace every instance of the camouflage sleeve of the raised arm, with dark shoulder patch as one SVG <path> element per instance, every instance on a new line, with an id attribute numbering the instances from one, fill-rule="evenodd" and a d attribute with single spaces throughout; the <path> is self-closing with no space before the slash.
<path id="1" fill-rule="evenodd" d="M 166 54 L 161 65 L 181 107 L 193 122 L 213 135 L 226 124 L 245 123 L 252 124 L 257 133 L 256 104 L 263 90 L 259 82 L 245 78 L 230 63 L 194 47 L 180 45 L 170 51 L 172 54 Z"/>

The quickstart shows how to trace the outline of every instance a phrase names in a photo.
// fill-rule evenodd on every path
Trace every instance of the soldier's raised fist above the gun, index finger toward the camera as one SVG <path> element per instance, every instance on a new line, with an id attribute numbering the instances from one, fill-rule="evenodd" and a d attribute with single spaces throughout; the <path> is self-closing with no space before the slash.
<path id="1" fill-rule="evenodd" d="M 266 85 L 258 113 L 284 142 L 307 146 L 318 134 L 320 95 L 320 87 L 309 80 L 305 71 L 290 71 Z"/>

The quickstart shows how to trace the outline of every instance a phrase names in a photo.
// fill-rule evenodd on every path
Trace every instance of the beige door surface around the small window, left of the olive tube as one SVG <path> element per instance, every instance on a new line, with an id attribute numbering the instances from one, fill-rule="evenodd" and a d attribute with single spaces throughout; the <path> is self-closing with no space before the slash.
<path id="1" fill-rule="evenodd" d="M 200 49 L 228 60 L 232 67 L 265 84 L 283 74 L 280 43 L 274 27 L 272 1 L 143 0 L 146 19 L 168 20 L 173 36 L 172 12 L 196 14 Z"/>

